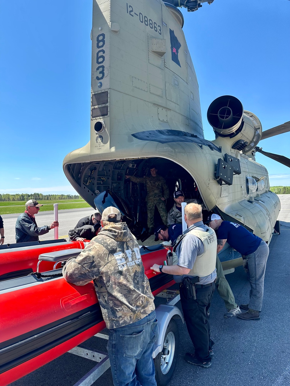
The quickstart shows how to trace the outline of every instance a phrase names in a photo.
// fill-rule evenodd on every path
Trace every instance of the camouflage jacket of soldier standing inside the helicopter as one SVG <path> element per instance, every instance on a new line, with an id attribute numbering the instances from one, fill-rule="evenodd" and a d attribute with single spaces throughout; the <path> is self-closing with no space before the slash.
<path id="1" fill-rule="evenodd" d="M 130 176 L 130 179 L 136 183 L 146 184 L 146 201 L 162 202 L 161 197 L 164 197 L 165 200 L 169 197 L 169 189 L 166 185 L 165 179 L 161 176 Z"/>

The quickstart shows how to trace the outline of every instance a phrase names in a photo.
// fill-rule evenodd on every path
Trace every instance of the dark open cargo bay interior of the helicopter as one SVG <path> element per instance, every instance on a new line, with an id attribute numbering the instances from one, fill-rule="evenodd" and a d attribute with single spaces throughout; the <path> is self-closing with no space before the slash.
<path id="1" fill-rule="evenodd" d="M 150 166 L 155 165 L 158 174 L 165 178 L 169 198 L 165 201 L 167 211 L 174 205 L 173 193 L 182 190 L 186 199 L 196 199 L 203 204 L 193 177 L 180 165 L 164 158 L 146 158 L 117 161 L 101 161 L 68 165 L 73 182 L 82 187 L 82 197 L 100 212 L 107 206 L 118 207 L 131 231 L 141 240 L 147 234 L 146 185 L 133 183 L 125 175 L 150 176 Z M 203 208 L 204 205 L 203 205 Z M 208 211 L 204 210 L 204 216 Z M 154 223 L 162 220 L 155 207 Z"/>

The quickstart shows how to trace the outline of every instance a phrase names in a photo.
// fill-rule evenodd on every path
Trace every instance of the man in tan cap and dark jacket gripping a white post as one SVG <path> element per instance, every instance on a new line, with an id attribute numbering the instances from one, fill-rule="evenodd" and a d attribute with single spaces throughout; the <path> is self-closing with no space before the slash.
<path id="1" fill-rule="evenodd" d="M 16 242 L 39 241 L 39 236 L 45 235 L 49 230 L 58 227 L 58 221 L 53 221 L 51 225 L 44 225 L 43 227 L 37 226 L 34 215 L 39 212 L 39 208 L 43 204 L 39 204 L 36 200 L 28 200 L 25 206 L 25 212 L 21 213 L 16 220 Z"/>

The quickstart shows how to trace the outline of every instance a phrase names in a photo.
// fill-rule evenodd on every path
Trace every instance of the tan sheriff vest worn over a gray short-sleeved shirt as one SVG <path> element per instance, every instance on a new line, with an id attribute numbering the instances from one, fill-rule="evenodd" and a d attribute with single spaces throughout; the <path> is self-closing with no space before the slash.
<path id="1" fill-rule="evenodd" d="M 215 231 L 212 228 L 208 228 L 207 232 L 194 228 L 186 233 L 186 235 L 198 237 L 205 248 L 203 254 L 196 257 L 193 269 L 191 269 L 186 276 L 199 276 L 202 278 L 210 275 L 215 270 L 217 260 L 217 236 Z M 186 235 L 184 235 L 184 237 L 186 237 Z"/>

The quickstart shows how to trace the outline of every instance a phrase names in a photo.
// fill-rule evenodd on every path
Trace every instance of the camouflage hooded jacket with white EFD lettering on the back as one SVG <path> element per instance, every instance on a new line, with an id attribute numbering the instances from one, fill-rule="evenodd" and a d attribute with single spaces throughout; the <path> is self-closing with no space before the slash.
<path id="1" fill-rule="evenodd" d="M 67 261 L 63 277 L 77 286 L 94 280 L 107 328 L 137 322 L 155 309 L 138 242 L 125 222 L 102 228 L 77 258 Z"/>

